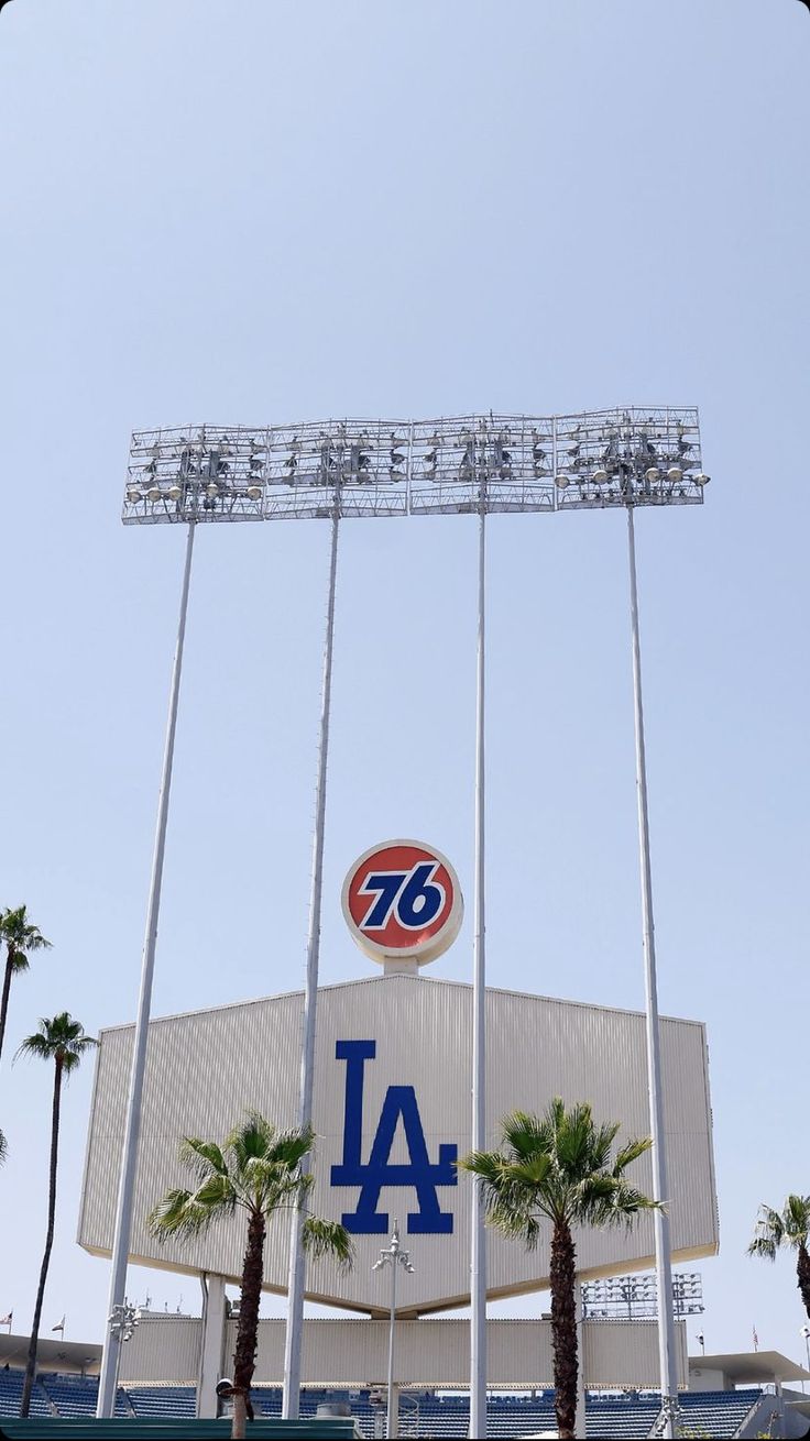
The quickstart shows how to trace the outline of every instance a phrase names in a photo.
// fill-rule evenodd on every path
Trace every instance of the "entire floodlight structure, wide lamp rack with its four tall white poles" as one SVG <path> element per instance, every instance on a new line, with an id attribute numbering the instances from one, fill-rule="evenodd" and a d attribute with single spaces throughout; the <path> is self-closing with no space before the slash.
<path id="1" fill-rule="evenodd" d="M 479 517 L 479 638 L 476 712 L 476 896 L 473 974 L 473 1144 L 486 1144 L 486 968 L 484 968 L 484 523 L 497 513 L 556 513 L 561 510 L 627 510 L 631 579 L 633 676 L 638 833 L 641 850 L 643 931 L 647 981 L 647 1061 L 650 1125 L 653 1131 L 654 1197 L 666 1199 L 666 1159 L 660 1095 L 660 1048 L 656 964 L 651 924 L 647 787 L 641 709 L 641 672 L 636 588 L 633 513 L 638 506 L 700 504 L 709 477 L 700 464 L 698 411 L 693 408 L 631 406 L 577 415 L 457 415 L 431 421 L 344 419 L 297 425 L 183 425 L 135 431 L 130 448 L 123 520 L 125 525 L 187 526 L 180 621 L 172 674 L 169 726 L 160 784 L 156 850 L 147 908 L 141 990 L 124 1159 L 112 1244 L 110 1310 L 121 1303 L 131 1232 L 131 1209 L 146 1040 L 177 696 L 189 601 L 193 536 L 197 525 L 246 520 L 330 520 L 331 552 L 321 684 L 316 830 L 304 990 L 300 1121 L 311 1121 L 314 1036 L 320 948 L 326 761 L 337 529 L 344 517 L 476 514 Z M 474 1193 L 480 1202 L 479 1192 Z M 675 1331 L 669 1219 L 656 1212 L 656 1270 L 659 1278 L 659 1337 L 662 1395 L 676 1405 Z M 486 1427 L 486 1236 L 479 1203 L 471 1225 L 471 1434 Z M 293 1218 L 288 1324 L 282 1415 L 298 1415 L 303 1340 L 304 1257 L 301 1218 Z M 666 1317 L 670 1316 L 669 1329 Z M 111 1347 L 105 1347 L 98 1415 L 112 1414 Z M 479 1431 L 476 1431 L 476 1427 Z M 667 1431 L 672 1434 L 672 1428 Z"/>

